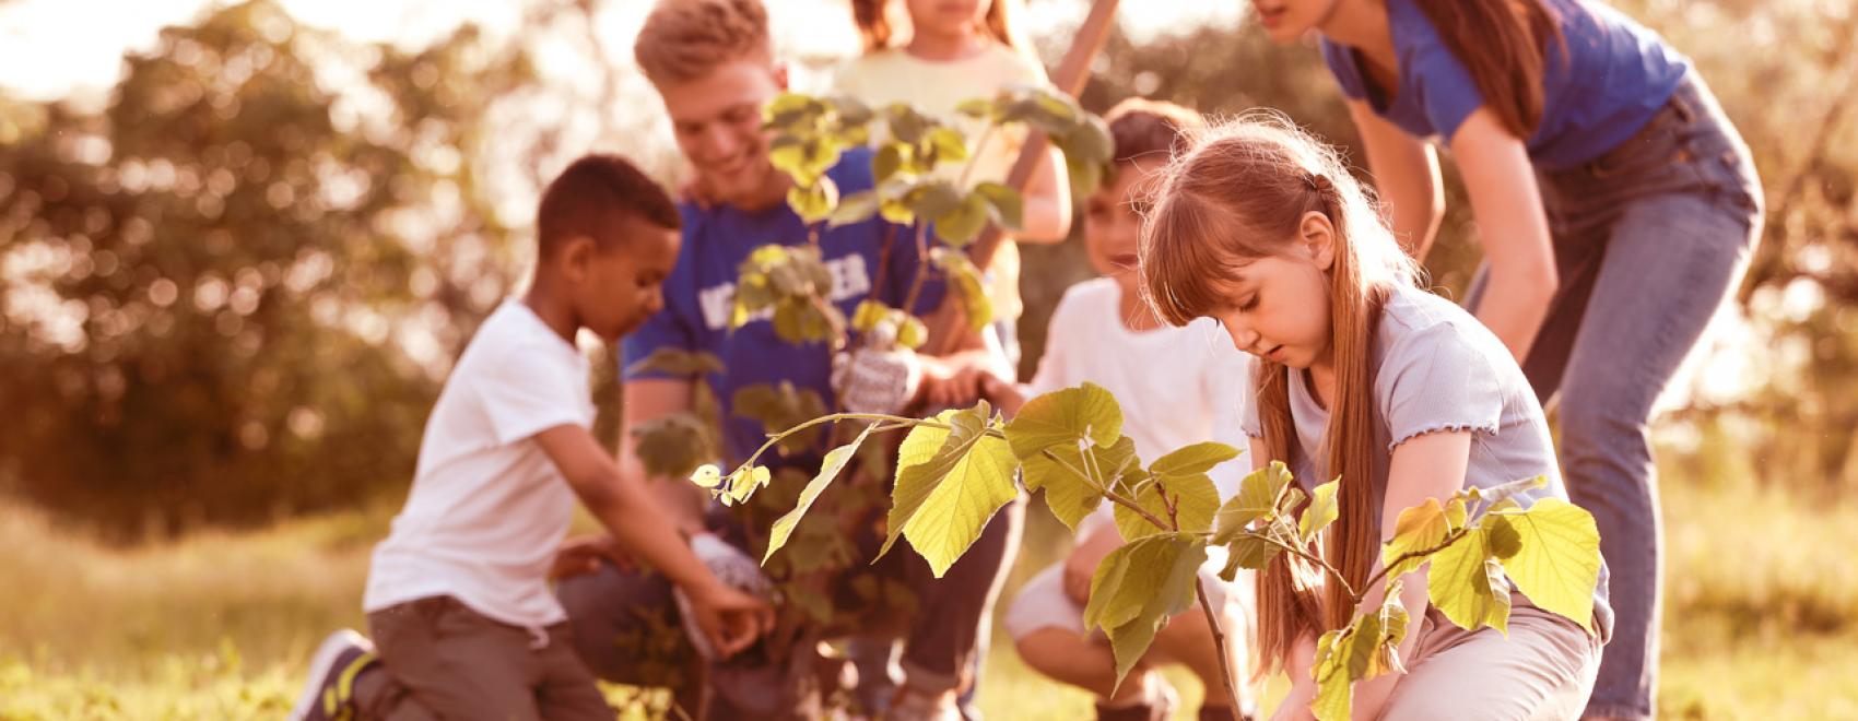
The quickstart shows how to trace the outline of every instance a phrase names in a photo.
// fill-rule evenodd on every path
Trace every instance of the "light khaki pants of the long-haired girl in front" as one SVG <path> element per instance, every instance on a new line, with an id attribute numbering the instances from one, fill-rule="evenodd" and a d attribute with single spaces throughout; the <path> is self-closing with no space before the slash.
<path id="1" fill-rule="evenodd" d="M 1509 637 L 1468 632 L 1427 610 L 1407 676 L 1382 719 L 1579 719 L 1600 673 L 1600 639 L 1511 595 Z"/>

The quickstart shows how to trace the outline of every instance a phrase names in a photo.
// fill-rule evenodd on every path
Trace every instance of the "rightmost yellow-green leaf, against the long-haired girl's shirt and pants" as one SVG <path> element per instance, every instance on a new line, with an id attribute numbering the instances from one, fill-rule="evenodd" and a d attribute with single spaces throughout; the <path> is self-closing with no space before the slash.
<path id="1" fill-rule="evenodd" d="M 1518 544 L 1492 543 L 1492 554 L 1516 589 L 1550 613 L 1592 630 L 1600 585 L 1600 531 L 1594 517 L 1561 498 L 1537 500 L 1529 511 L 1485 520 L 1492 537 L 1512 530 Z"/>

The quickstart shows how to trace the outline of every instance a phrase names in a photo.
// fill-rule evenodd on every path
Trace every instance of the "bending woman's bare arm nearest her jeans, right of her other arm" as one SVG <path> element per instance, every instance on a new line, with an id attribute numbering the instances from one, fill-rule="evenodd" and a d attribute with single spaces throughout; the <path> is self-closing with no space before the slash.
<path id="1" fill-rule="evenodd" d="M 1451 138 L 1451 152 L 1470 188 L 1477 236 L 1490 262 L 1477 320 L 1522 362 L 1561 282 L 1535 165 L 1522 139 L 1485 108 L 1464 119 Z"/>

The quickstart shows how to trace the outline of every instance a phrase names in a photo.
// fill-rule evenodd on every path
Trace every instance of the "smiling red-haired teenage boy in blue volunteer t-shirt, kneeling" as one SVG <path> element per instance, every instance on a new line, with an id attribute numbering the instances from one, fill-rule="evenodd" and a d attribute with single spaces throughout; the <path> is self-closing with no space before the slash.
<path id="1" fill-rule="evenodd" d="M 738 388 L 786 381 L 818 392 L 827 403 L 836 398 L 831 383 L 832 357 L 825 344 L 780 340 L 765 318 L 738 329 L 728 323 L 738 266 L 749 253 L 767 243 L 803 245 L 808 240 L 806 227 L 786 206 L 792 180 L 769 164 L 767 136 L 760 128 L 760 108 L 782 91 L 786 72 L 771 56 L 767 17 L 754 0 L 663 0 L 647 19 L 634 48 L 639 67 L 665 102 L 678 149 L 695 169 L 700 195 L 713 203 L 680 208 L 684 245 L 665 279 L 665 308 L 626 340 L 622 368 L 665 347 L 719 357 L 726 370 L 706 381 L 715 388 L 723 411 L 723 461 L 741 463 L 765 440 L 765 433 L 760 422 L 734 414 L 732 396 Z M 847 152 L 829 177 L 842 195 L 871 188 L 870 154 Z M 886 238 L 894 238 L 888 249 Z M 829 301 L 847 318 L 866 297 L 903 307 L 923 262 L 914 247 L 914 232 L 881 219 L 821 230 L 819 251 L 832 273 Z M 927 314 L 940 305 L 940 284 L 931 282 L 912 310 Z M 983 349 L 979 336 L 962 338 L 957 346 L 968 351 L 912 362 L 920 364 L 925 379 L 998 362 Z M 628 427 L 693 407 L 691 379 L 630 372 L 622 383 Z M 896 396 L 907 400 L 907 394 Z M 621 448 L 622 463 L 637 463 L 634 442 L 628 435 Z M 810 463 L 803 466 L 810 474 L 819 461 L 786 463 Z M 717 550 L 721 543 L 708 535 L 702 518 L 708 500 L 699 489 L 682 479 L 667 479 L 656 487 L 661 491 L 663 511 L 693 535 L 699 556 L 717 563 L 715 556 L 734 554 Z M 1014 513 L 1003 513 L 988 524 L 970 557 L 942 580 L 931 580 L 927 569 L 923 574 L 910 572 L 923 613 L 910 621 L 912 630 L 905 639 L 905 688 L 894 704 L 894 717 L 933 717 L 953 710 L 957 689 L 972 676 L 968 669 L 977 639 L 985 636 L 987 611 L 998 593 L 1001 570 L 1011 567 L 1011 546 L 1005 541 L 1016 520 Z M 922 565 L 920 559 L 912 561 Z M 613 649 L 611 634 L 632 626 L 632 621 L 619 617 L 632 611 L 613 608 L 661 598 L 660 593 L 639 591 L 639 583 L 645 580 L 606 569 L 565 580 L 559 589 L 569 615 L 576 619 L 576 636 L 585 641 L 582 654 L 596 673 L 613 680 L 626 680 L 630 660 L 613 658 L 619 650 Z M 602 623 L 602 615 L 611 623 Z M 725 688 L 717 691 L 734 693 Z M 912 708 L 923 714 L 912 714 Z"/>

